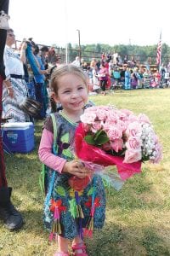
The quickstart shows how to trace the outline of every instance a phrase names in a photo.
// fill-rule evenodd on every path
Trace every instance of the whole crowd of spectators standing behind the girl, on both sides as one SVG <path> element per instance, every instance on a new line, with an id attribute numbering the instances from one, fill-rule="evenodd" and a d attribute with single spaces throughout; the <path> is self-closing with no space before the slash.
<path id="1" fill-rule="evenodd" d="M 32 38 L 24 38 L 19 49 L 12 46 L 15 36 L 12 29 L 7 31 L 4 62 L 9 84 L 3 84 L 3 118 L 9 121 L 32 121 L 32 116 L 20 108 L 20 102 L 26 97 L 35 100 L 41 105 L 41 111 L 36 119 L 44 119 L 51 111 L 56 110 L 56 103 L 50 96 L 49 80 L 54 68 L 61 64 L 61 57 L 54 47 L 39 47 Z M 102 93 L 104 96 L 109 90 L 136 90 L 154 89 L 170 86 L 170 64 L 161 65 L 160 69 L 153 69 L 150 65 L 138 65 L 132 56 L 122 59 L 116 52 L 102 53 L 100 59 L 92 58 L 85 61 L 76 56 L 71 64 L 82 67 L 88 74 L 89 90 L 91 94 Z"/>

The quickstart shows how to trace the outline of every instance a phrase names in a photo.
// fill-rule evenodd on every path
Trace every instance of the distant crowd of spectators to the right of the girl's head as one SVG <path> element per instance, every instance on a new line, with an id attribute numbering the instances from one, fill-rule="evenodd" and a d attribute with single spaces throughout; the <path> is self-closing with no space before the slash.
<path id="1" fill-rule="evenodd" d="M 115 57 L 116 55 L 116 57 Z M 134 58 L 128 61 L 127 56 L 124 60 L 118 54 L 101 55 L 101 60 L 93 59 L 89 65 L 81 61 L 82 68 L 88 73 L 91 88 L 98 91 L 101 88 L 100 73 L 102 67 L 107 69 L 106 84 L 107 90 L 149 89 L 169 87 L 170 64 L 167 67 L 153 70 L 150 65 L 138 66 Z M 98 86 L 98 87 L 96 87 Z"/>

